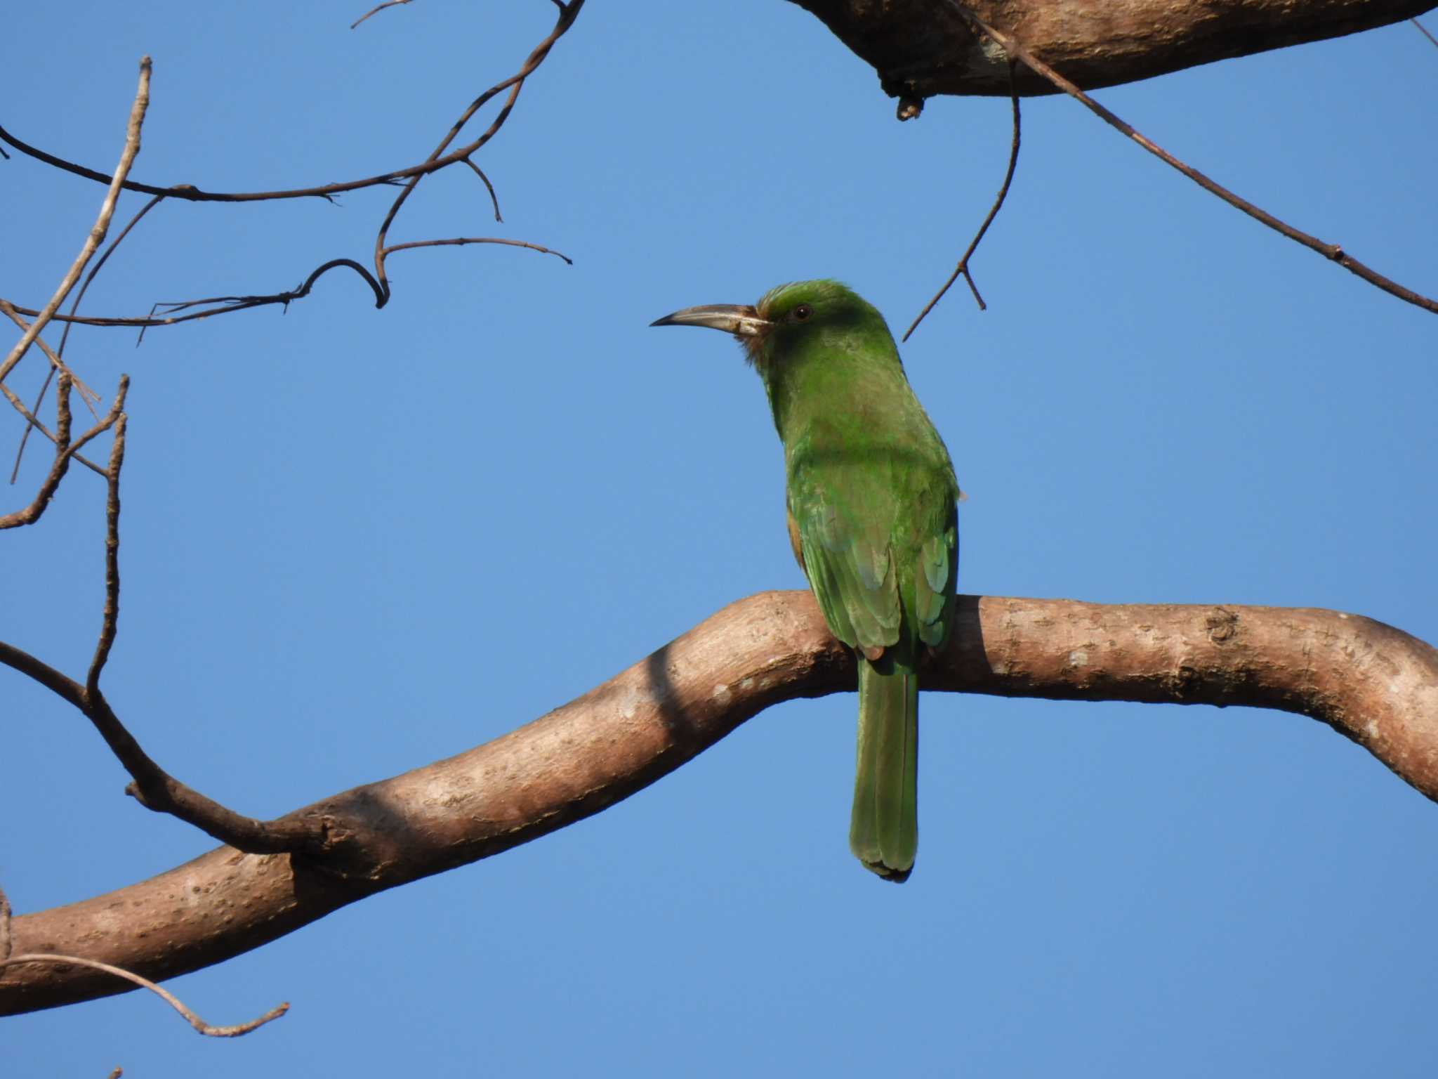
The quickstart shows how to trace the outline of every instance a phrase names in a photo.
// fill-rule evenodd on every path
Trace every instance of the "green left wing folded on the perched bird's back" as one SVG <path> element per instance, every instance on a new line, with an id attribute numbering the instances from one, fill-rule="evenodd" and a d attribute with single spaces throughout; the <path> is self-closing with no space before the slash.
<path id="1" fill-rule="evenodd" d="M 870 659 L 899 640 L 903 619 L 887 522 L 814 488 L 789 492 L 804 573 L 830 632 Z"/>

